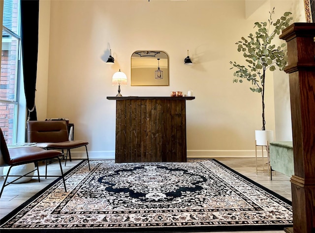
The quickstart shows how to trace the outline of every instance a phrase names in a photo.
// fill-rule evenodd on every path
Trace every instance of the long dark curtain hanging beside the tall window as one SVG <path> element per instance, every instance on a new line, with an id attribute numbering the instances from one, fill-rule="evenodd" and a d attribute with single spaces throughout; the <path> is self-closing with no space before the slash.
<path id="1" fill-rule="evenodd" d="M 30 120 L 37 120 L 35 88 L 38 53 L 38 10 L 39 0 L 21 0 L 24 90 Z"/>

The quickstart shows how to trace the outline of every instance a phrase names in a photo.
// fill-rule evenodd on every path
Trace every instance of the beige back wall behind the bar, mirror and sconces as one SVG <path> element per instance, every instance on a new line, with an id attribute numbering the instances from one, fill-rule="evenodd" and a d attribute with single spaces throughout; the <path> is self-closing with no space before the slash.
<path id="1" fill-rule="evenodd" d="M 277 17 L 297 11 L 296 21 L 305 21 L 302 0 L 261 5 L 244 0 L 41 0 L 40 10 L 47 12 L 40 20 L 47 25 L 40 27 L 40 40 L 45 42 L 40 41 L 39 48 L 38 70 L 44 69 L 37 77 L 38 118 L 68 117 L 75 124 L 74 137 L 91 143 L 91 157 L 113 157 L 116 105 L 106 97 L 116 95 L 111 77 L 121 69 L 129 78 L 121 91 L 125 96 L 193 90 L 196 99 L 187 101 L 190 157 L 254 155 L 261 100 L 249 89 L 250 83 L 232 82 L 229 61 L 243 62 L 235 42 L 252 32 L 255 21 L 268 20 L 273 6 Z M 105 64 L 109 47 L 115 58 L 112 66 Z M 184 65 L 187 49 L 193 66 Z M 130 86 L 130 57 L 136 50 L 168 53 L 169 86 Z M 287 90 L 281 87 L 274 94 L 273 73 L 266 85 L 266 128 L 275 130 L 275 107 L 283 105 L 274 99 L 283 92 L 287 95 Z M 283 130 L 290 132 L 290 125 L 279 128 Z"/>

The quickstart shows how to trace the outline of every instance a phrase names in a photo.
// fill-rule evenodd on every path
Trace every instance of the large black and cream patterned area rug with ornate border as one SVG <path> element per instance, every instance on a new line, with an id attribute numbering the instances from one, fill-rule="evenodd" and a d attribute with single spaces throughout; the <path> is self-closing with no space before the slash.
<path id="1" fill-rule="evenodd" d="M 0 221 L 0 232 L 214 232 L 292 227 L 290 201 L 215 159 L 83 161 Z"/>

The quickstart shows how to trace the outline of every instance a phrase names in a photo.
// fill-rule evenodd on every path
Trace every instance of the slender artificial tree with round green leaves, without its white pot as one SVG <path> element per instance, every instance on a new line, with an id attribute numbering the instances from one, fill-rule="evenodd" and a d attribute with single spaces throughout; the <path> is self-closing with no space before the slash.
<path id="1" fill-rule="evenodd" d="M 275 71 L 276 67 L 280 71 L 284 70 L 287 64 L 286 44 L 277 46 L 273 39 L 279 35 L 282 30 L 289 26 L 290 20 L 293 19 L 290 15 L 291 12 L 285 12 L 284 15 L 277 19 L 276 22 L 272 21 L 272 15 L 275 13 L 275 8 L 269 12 L 270 18 L 268 22 L 255 22 L 254 28 L 257 31 L 248 36 L 249 39 L 242 37 L 242 40 L 236 42 L 238 45 L 237 50 L 243 52 L 247 66 L 239 65 L 236 62 L 231 62 L 232 68 L 236 68 L 234 72 L 233 82 L 243 82 L 246 79 L 252 82 L 250 89 L 252 92 L 261 94 L 262 101 L 262 130 L 265 130 L 265 78 L 266 71 Z M 273 28 L 273 29 L 272 29 Z"/>

